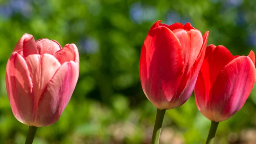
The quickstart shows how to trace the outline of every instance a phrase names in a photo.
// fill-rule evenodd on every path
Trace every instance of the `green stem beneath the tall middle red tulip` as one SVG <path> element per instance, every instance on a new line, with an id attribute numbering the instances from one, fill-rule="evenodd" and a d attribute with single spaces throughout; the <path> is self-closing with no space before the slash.
<path id="1" fill-rule="evenodd" d="M 158 144 L 159 143 L 160 133 L 161 133 L 161 129 L 162 129 L 162 122 L 164 120 L 165 111 L 166 110 L 157 109 L 155 126 L 154 126 L 154 130 L 153 130 L 151 144 Z"/>

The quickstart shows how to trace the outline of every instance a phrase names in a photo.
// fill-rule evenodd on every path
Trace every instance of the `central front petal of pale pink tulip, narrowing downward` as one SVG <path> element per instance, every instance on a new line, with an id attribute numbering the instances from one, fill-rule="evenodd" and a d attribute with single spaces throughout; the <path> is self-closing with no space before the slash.
<path id="1" fill-rule="evenodd" d="M 33 54 L 26 58 L 28 70 L 33 83 L 34 114 L 37 112 L 37 104 L 46 85 L 61 66 L 59 61 L 50 54 Z M 35 122 L 37 120 L 35 119 Z M 36 124 L 35 124 L 36 125 Z"/>

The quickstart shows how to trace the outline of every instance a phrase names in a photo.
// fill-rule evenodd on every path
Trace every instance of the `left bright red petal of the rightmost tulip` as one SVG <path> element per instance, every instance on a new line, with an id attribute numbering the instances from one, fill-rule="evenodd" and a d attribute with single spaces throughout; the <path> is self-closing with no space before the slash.
<path id="1" fill-rule="evenodd" d="M 195 97 L 198 110 L 212 120 L 213 116 L 209 113 L 210 110 L 210 89 L 226 64 L 233 59 L 233 55 L 224 46 L 209 45 L 206 48 L 206 54 L 201 66 L 201 75 L 197 78 L 195 86 Z"/>

